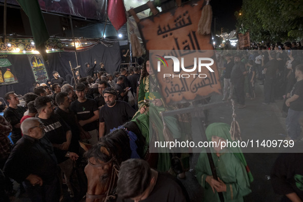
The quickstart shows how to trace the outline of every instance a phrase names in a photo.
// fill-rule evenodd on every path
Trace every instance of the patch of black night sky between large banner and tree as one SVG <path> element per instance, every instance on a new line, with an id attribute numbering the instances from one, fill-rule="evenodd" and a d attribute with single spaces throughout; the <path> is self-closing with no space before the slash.
<path id="1" fill-rule="evenodd" d="M 236 28 L 234 13 L 241 9 L 242 0 L 212 0 L 210 1 L 210 5 L 213 10 L 212 32 L 214 30 L 214 17 L 216 18 L 216 33 L 221 32 L 221 27 L 223 27 L 223 32 L 228 33 Z"/>

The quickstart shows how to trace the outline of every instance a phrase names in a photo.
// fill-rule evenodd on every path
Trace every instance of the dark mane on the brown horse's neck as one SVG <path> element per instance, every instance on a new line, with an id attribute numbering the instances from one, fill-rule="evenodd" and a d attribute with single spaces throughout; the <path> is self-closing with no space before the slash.
<path id="1" fill-rule="evenodd" d="M 124 125 L 124 128 L 137 135 L 137 153 L 140 155 L 140 157 L 143 157 L 145 138 L 140 132 L 137 124 L 135 122 L 127 122 Z M 109 151 L 109 156 L 103 152 L 100 152 L 101 147 L 105 147 Z M 129 159 L 131 156 L 129 136 L 126 130 L 115 129 L 110 134 L 100 138 L 100 142 L 87 151 L 85 156 L 87 158 L 94 157 L 98 163 L 100 163 L 100 161 L 107 162 L 114 156 L 117 163 L 120 165 L 123 161 Z"/>

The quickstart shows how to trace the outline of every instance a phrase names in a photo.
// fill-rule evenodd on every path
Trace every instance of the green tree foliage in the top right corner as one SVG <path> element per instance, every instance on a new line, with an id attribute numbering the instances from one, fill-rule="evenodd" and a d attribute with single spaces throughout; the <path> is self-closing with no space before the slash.
<path id="1" fill-rule="evenodd" d="M 302 0 L 243 0 L 241 10 L 235 12 L 236 27 L 238 32 L 249 29 L 251 41 L 302 39 L 302 11 Z"/>

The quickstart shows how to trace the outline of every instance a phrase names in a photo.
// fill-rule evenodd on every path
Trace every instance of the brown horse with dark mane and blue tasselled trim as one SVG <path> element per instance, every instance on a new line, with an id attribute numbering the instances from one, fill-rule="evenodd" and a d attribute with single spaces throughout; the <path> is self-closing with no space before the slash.
<path id="1" fill-rule="evenodd" d="M 133 156 L 149 158 L 150 165 L 156 167 L 157 159 L 153 155 L 148 157 L 150 155 L 148 151 L 145 152 L 146 147 L 145 137 L 135 122 L 128 122 L 123 128 L 115 129 L 102 137 L 85 154 L 88 159 L 84 170 L 88 179 L 86 202 L 116 199 L 119 166 L 124 160 Z"/>

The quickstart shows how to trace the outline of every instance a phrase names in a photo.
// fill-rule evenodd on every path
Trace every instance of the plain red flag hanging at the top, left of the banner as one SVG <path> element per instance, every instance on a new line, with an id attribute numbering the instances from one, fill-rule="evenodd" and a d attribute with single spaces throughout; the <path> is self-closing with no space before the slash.
<path id="1" fill-rule="evenodd" d="M 108 0 L 107 13 L 117 31 L 127 22 L 123 0 Z"/>

